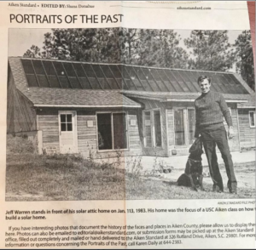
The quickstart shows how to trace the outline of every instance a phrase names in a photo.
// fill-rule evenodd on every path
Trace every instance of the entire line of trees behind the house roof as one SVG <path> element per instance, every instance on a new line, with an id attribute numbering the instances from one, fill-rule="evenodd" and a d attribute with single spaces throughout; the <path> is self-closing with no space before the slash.
<path id="1" fill-rule="evenodd" d="M 253 47 L 250 31 L 242 31 L 234 44 L 228 31 L 191 31 L 180 46 L 173 30 L 129 28 L 52 29 L 44 46 L 32 45 L 25 57 L 124 63 L 203 71 L 236 72 L 254 89 Z"/>

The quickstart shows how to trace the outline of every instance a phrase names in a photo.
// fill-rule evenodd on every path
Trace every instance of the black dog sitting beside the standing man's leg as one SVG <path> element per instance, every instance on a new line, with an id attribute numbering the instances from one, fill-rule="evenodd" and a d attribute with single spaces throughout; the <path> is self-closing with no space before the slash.
<path id="1" fill-rule="evenodd" d="M 185 173 L 177 179 L 177 185 L 192 187 L 196 191 L 198 187 L 204 190 L 203 168 L 201 164 L 202 153 L 201 139 L 195 139 L 195 142 L 189 148 L 189 159 L 186 163 Z"/>

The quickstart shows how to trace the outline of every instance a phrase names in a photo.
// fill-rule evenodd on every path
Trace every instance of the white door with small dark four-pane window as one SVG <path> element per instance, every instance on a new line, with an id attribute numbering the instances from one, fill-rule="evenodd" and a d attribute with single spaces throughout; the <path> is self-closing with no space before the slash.
<path id="1" fill-rule="evenodd" d="M 76 111 L 59 111 L 59 134 L 61 154 L 77 153 Z"/>

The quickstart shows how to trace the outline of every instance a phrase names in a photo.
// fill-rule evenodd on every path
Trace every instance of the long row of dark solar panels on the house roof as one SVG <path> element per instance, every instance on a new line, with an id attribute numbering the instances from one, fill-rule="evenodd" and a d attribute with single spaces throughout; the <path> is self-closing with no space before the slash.
<path id="1" fill-rule="evenodd" d="M 106 65 L 51 60 L 21 60 L 29 87 L 126 89 L 149 92 L 200 92 L 202 71 Z M 206 72 L 212 90 L 224 94 L 248 94 L 233 74 Z"/>

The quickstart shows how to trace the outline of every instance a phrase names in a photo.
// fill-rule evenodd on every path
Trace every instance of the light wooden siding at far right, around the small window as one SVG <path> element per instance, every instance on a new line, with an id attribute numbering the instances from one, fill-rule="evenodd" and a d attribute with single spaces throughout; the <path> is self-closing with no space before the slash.
<path id="1" fill-rule="evenodd" d="M 255 128 L 250 128 L 249 111 L 255 109 L 238 109 L 241 151 L 255 148 Z"/>

